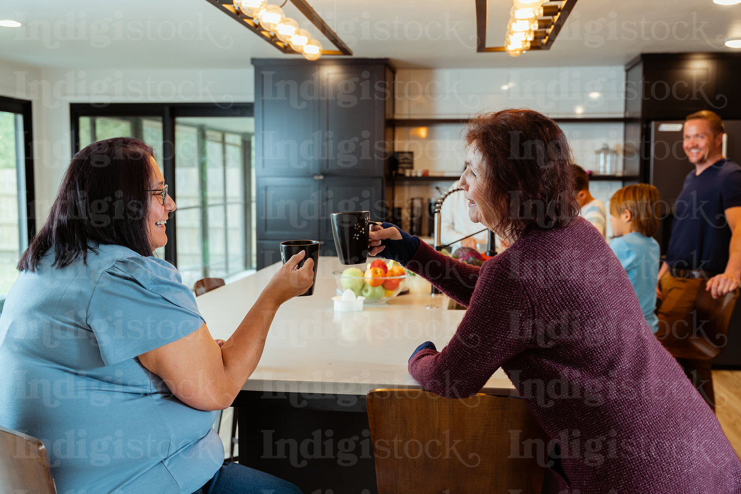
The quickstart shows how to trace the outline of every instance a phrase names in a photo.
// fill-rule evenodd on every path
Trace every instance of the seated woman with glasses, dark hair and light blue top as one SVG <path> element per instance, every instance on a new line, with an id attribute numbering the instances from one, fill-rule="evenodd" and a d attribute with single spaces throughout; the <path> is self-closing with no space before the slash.
<path id="1" fill-rule="evenodd" d="M 141 141 L 76 154 L 0 316 L 0 425 L 44 441 L 59 493 L 299 493 L 224 463 L 211 426 L 313 261 L 298 270 L 293 256 L 218 344 L 175 267 L 152 256 L 173 210 Z"/>

